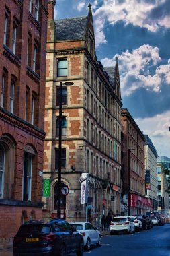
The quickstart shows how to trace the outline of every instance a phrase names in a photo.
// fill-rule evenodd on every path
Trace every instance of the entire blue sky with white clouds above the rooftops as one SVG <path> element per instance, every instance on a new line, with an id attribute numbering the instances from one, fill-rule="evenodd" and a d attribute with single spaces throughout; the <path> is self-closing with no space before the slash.
<path id="1" fill-rule="evenodd" d="M 89 1 L 57 0 L 55 18 L 87 15 Z M 123 108 L 159 156 L 170 157 L 170 0 L 91 0 L 97 58 L 118 57 Z"/>

